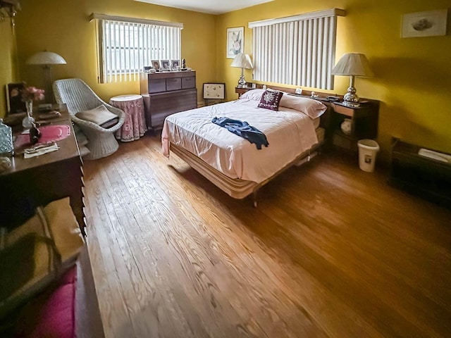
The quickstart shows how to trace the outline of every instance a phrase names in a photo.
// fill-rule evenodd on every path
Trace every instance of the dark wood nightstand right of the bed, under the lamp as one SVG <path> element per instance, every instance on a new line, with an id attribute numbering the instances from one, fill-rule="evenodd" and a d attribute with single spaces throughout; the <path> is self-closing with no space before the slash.
<path id="1" fill-rule="evenodd" d="M 345 150 L 354 155 L 358 153 L 359 139 L 373 139 L 378 135 L 379 101 L 364 100 L 358 108 L 347 107 L 340 102 L 333 102 L 333 137 L 335 148 Z M 345 134 L 340 126 L 345 118 L 352 122 L 352 132 Z"/>

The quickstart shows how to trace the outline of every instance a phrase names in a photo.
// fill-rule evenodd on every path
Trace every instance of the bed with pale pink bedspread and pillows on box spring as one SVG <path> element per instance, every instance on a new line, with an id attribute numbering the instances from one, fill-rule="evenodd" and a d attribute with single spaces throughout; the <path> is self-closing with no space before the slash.
<path id="1" fill-rule="evenodd" d="M 257 206 L 259 188 L 316 156 L 326 134 L 321 120 L 328 107 L 321 101 L 283 93 L 277 109 L 261 108 L 268 93 L 254 89 L 235 101 L 169 115 L 161 132 L 163 155 L 179 156 L 235 199 L 252 194 Z M 247 121 L 266 135 L 268 146 L 257 149 L 212 123 L 216 117 Z"/>

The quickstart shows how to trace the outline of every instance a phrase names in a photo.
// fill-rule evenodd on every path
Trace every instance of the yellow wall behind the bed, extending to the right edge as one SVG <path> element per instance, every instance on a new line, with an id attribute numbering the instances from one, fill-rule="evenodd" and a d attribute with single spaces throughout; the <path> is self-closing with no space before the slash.
<path id="1" fill-rule="evenodd" d="M 245 27 L 245 53 L 252 56 L 252 30 L 247 23 L 342 8 L 338 18 L 336 60 L 347 52 L 364 53 L 376 73 L 371 79 L 357 78 L 361 97 L 381 101 L 378 142 L 387 160 L 390 138 L 451 152 L 451 36 L 402 39 L 402 14 L 450 7 L 449 0 L 276 0 L 259 6 L 219 15 L 216 20 L 218 78 L 226 82 L 228 99 L 240 76 L 226 58 L 226 28 Z M 448 15 L 448 26 L 451 20 Z M 245 70 L 248 81 L 252 70 Z M 344 94 L 349 77 L 335 77 L 335 90 Z"/>

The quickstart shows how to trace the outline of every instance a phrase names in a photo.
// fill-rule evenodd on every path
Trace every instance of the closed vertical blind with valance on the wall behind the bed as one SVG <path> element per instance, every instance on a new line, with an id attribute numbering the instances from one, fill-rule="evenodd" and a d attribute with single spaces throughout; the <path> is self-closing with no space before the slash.
<path id="1" fill-rule="evenodd" d="M 254 80 L 333 89 L 337 16 L 333 8 L 249 23 Z"/>

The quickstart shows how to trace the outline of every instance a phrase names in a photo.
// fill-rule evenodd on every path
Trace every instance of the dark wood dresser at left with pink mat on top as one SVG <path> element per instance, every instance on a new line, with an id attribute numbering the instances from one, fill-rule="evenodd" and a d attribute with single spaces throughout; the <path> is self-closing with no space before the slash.
<path id="1" fill-rule="evenodd" d="M 30 145 L 16 148 L 11 167 L 0 173 L 0 226 L 16 227 L 30 218 L 37 206 L 70 196 L 70 206 L 85 234 L 82 159 L 66 105 L 60 113 L 51 123 L 70 126 L 70 135 L 56 142 L 60 149 L 25 159 L 23 151 Z M 39 120 L 39 114 L 35 115 Z"/>

